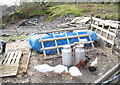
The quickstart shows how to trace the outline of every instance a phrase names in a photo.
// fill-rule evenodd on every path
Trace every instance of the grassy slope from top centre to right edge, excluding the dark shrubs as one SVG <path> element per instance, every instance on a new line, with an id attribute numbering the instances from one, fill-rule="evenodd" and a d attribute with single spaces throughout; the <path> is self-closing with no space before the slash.
<path id="1" fill-rule="evenodd" d="M 63 4 L 49 7 L 49 20 L 62 17 L 65 14 L 78 16 L 90 16 L 110 20 L 120 20 L 118 16 L 118 4 Z"/>

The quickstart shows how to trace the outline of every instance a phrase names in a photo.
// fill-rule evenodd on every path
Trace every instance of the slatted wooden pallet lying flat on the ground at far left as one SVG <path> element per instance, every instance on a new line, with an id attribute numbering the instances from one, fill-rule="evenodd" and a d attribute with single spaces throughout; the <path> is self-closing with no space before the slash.
<path id="1" fill-rule="evenodd" d="M 22 52 L 8 52 L 0 60 L 0 77 L 15 76 Z"/>

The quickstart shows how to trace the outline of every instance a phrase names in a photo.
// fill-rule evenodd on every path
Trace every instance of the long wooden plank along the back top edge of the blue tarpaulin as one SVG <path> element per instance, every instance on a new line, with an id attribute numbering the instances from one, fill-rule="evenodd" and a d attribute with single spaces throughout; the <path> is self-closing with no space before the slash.
<path id="1" fill-rule="evenodd" d="M 50 39 L 42 39 L 40 42 L 47 42 L 47 41 L 54 41 L 54 40 L 62 40 L 62 39 L 67 39 L 67 38 L 76 38 L 76 37 L 86 37 L 90 36 L 91 34 L 84 34 L 84 35 L 76 35 L 76 36 L 68 36 L 68 37 L 59 37 L 59 38 L 50 38 Z"/>

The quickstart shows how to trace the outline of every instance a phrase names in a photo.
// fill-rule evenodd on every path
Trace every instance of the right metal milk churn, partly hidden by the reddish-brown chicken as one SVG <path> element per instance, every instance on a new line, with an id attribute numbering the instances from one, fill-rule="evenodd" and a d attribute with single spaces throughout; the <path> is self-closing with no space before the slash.
<path id="1" fill-rule="evenodd" d="M 85 58 L 84 44 L 76 45 L 75 50 L 75 64 L 78 64 L 80 60 Z"/>

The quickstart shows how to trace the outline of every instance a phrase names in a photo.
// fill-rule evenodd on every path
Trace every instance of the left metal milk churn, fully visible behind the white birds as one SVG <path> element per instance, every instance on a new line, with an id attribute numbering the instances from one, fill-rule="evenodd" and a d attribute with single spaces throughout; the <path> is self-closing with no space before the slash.
<path id="1" fill-rule="evenodd" d="M 62 63 L 65 66 L 72 65 L 72 50 L 70 45 L 64 45 L 62 49 Z"/>

